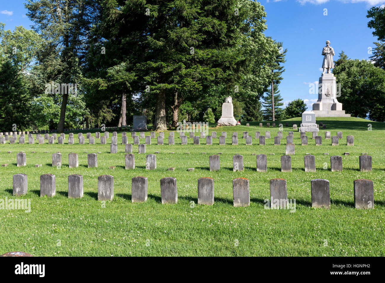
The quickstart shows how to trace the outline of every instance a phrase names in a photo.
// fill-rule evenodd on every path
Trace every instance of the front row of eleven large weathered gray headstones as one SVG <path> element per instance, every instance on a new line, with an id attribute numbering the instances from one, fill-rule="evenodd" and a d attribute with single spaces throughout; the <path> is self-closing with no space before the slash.
<path id="1" fill-rule="evenodd" d="M 288 208 L 288 194 L 285 179 L 271 179 L 269 208 Z M 166 177 L 160 180 L 162 204 L 177 203 L 178 191 L 176 178 Z M 25 196 L 27 194 L 28 181 L 26 174 L 13 175 L 13 195 Z M 357 179 L 353 182 L 355 208 L 374 208 L 373 181 Z M 54 197 L 56 194 L 56 180 L 53 174 L 40 176 L 40 197 Z M 82 198 L 83 176 L 73 174 L 68 176 L 68 197 Z M 98 177 L 98 200 L 112 201 L 114 198 L 114 176 L 101 175 Z M 147 200 L 147 178 L 138 176 L 131 181 L 131 201 L 144 202 Z M 198 204 L 213 205 L 214 203 L 214 179 L 203 177 L 198 179 Z M 233 205 L 249 206 L 250 189 L 249 179 L 233 179 Z M 326 179 L 311 180 L 311 206 L 317 208 L 330 208 L 330 188 Z"/>

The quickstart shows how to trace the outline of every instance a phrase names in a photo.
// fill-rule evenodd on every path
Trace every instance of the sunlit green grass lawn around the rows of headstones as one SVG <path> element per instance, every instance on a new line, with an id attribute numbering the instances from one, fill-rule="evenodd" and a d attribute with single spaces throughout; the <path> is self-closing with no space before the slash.
<path id="1" fill-rule="evenodd" d="M 288 122 L 290 126 L 291 122 L 300 124 L 300 118 Z M 210 127 L 209 132 L 216 131 L 217 137 L 227 131 L 225 146 L 219 146 L 219 138 L 213 139 L 212 146 L 206 146 L 205 139 L 199 146 L 192 145 L 192 139 L 182 146 L 177 133 L 176 144 L 169 146 L 165 132 L 163 146 L 156 145 L 156 139 L 152 139 L 155 144 L 146 146 L 147 154 L 160 152 L 154 171 L 145 169 L 146 155 L 138 154 L 137 145 L 133 146 L 136 169 L 125 170 L 124 145 L 118 144 L 117 154 L 109 153 L 112 132 L 106 145 L 101 145 L 100 139 L 95 139 L 95 145 L 89 145 L 87 139 L 79 145 L 76 131 L 74 145 L 67 144 L 68 133 L 64 145 L 58 145 L 57 140 L 54 145 L 48 141 L 44 145 L 7 141 L 0 144 L 0 164 L 9 164 L 0 167 L 0 199 L 31 199 L 31 212 L 0 209 L 0 254 L 25 251 L 35 256 L 384 256 L 385 125 L 360 118 L 320 118 L 319 122 L 327 125 L 327 129 L 320 129 L 322 146 L 315 146 L 311 133 L 307 134 L 309 145 L 301 146 L 300 134 L 295 132 L 290 173 L 280 172 L 280 157 L 285 154 L 286 135 L 292 129 L 284 127 L 281 146 L 274 146 L 278 121 L 274 128 L 267 128 L 266 122 L 263 128 L 259 122 L 250 122 L 249 127 Z M 368 124 L 372 131 L 368 131 Z M 231 145 L 233 131 L 238 132 L 238 146 Z M 252 146 L 245 145 L 243 131 L 253 137 Z M 265 146 L 259 146 L 255 131 L 261 135 L 271 132 Z M 325 131 L 331 131 L 332 136 L 342 131 L 340 145 L 331 146 L 331 140 L 324 139 Z M 354 146 L 346 146 L 347 135 L 354 136 Z M 132 143 L 129 132 L 127 136 Z M 140 142 L 144 143 L 144 139 Z M 26 152 L 26 167 L 16 166 L 16 153 L 20 151 Z M 63 158 L 60 169 L 51 166 L 52 153 L 57 151 Z M 78 153 L 78 168 L 68 168 L 69 152 Z M 102 152 L 98 154 L 98 168 L 87 167 L 86 152 Z M 210 172 L 209 155 L 218 152 L 222 152 L 221 169 Z M 343 156 L 344 152 L 350 155 Z M 359 171 L 362 152 L 372 156 L 373 171 Z M 243 172 L 233 172 L 232 157 L 237 153 L 244 157 Z M 267 154 L 267 172 L 256 171 L 256 156 L 252 153 Z M 304 171 L 306 153 L 315 155 L 314 173 Z M 342 172 L 330 171 L 333 155 L 342 156 Z M 327 170 L 323 169 L 325 162 Z M 42 167 L 36 168 L 35 164 Z M 112 170 L 109 166 L 116 167 Z M 169 167 L 176 169 L 167 171 Z M 187 171 L 189 167 L 195 170 Z M 17 173 L 28 175 L 28 193 L 22 197 L 12 196 L 12 175 Z M 47 173 L 56 176 L 54 198 L 40 198 L 40 175 Z M 84 177 L 81 199 L 68 199 L 70 174 Z M 97 177 L 103 174 L 114 176 L 115 197 L 105 208 L 97 200 Z M 135 176 L 148 178 L 146 203 L 131 203 L 131 178 Z M 178 203 L 162 205 L 159 180 L 168 176 L 177 179 Z M 196 204 L 200 177 L 214 178 L 213 206 Z M 239 177 L 249 179 L 249 207 L 233 207 L 232 180 Z M 273 178 L 287 180 L 288 199 L 296 199 L 294 213 L 264 209 L 264 199 L 270 197 L 269 180 Z M 311 208 L 310 181 L 316 178 L 330 181 L 330 209 Z M 374 209 L 354 208 L 353 181 L 360 178 L 374 182 Z"/>

